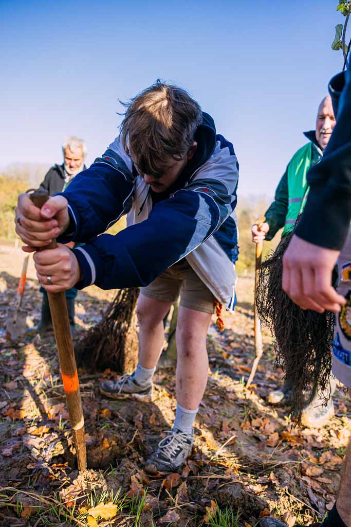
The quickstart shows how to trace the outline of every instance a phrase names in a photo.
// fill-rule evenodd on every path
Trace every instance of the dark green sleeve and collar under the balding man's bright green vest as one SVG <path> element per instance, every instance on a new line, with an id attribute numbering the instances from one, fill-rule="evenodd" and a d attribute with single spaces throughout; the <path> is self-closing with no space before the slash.
<path id="1" fill-rule="evenodd" d="M 316 164 L 321 158 L 321 150 L 316 139 L 316 133 L 314 130 L 304 132 L 304 135 L 310 142 L 312 142 L 312 157 L 311 166 Z M 265 213 L 266 222 L 269 225 L 269 231 L 266 236 L 266 240 L 272 240 L 276 235 L 277 231 L 284 227 L 286 214 L 288 211 L 289 204 L 289 191 L 288 191 L 288 167 L 280 179 L 277 189 L 275 191 L 274 201 L 267 209 Z"/>

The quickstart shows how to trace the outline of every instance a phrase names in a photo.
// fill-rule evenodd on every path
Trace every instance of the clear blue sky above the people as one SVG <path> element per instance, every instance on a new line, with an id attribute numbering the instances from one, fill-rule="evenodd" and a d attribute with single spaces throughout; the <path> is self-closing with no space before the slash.
<path id="1" fill-rule="evenodd" d="M 187 89 L 233 142 L 239 192 L 272 196 L 314 128 L 344 17 L 337 0 L 0 0 L 0 167 L 61 162 L 70 134 L 88 163 L 127 100 L 157 77 Z"/>

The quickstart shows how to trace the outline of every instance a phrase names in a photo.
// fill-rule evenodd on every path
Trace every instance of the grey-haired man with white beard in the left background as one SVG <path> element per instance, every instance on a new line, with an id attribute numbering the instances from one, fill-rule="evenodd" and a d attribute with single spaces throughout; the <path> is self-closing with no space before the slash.
<path id="1" fill-rule="evenodd" d="M 68 137 L 62 144 L 62 153 L 63 163 L 54 164 L 49 169 L 40 185 L 40 188 L 46 190 L 49 193 L 49 196 L 54 196 L 54 194 L 57 192 L 64 191 L 67 185 L 73 180 L 75 175 L 86 169 L 84 160 L 86 158 L 87 149 L 86 143 L 83 141 L 83 139 L 78 139 L 75 136 Z M 67 245 L 71 249 L 74 247 L 73 242 L 68 243 Z M 31 331 L 42 332 L 51 328 L 52 321 L 47 293 L 43 287 L 41 287 L 40 290 L 43 293 L 41 320 L 36 326 L 34 326 L 33 329 L 31 329 Z M 67 301 L 69 324 L 73 333 L 75 327 L 74 299 L 77 296 L 77 289 L 75 287 L 68 289 L 65 291 L 65 296 Z"/>

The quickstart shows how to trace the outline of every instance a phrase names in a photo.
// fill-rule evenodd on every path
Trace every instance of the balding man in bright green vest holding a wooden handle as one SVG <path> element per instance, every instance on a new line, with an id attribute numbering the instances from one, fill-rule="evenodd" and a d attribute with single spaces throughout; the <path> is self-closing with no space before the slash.
<path id="1" fill-rule="evenodd" d="M 293 229 L 298 215 L 304 210 L 308 196 L 306 174 L 310 167 L 318 163 L 326 148 L 330 135 L 336 124 L 330 95 L 324 97 L 317 113 L 316 130 L 305 132 L 308 139 L 302 148 L 297 150 L 289 161 L 275 192 L 275 199 L 265 213 L 263 225 L 252 226 L 252 239 L 255 243 L 272 240 L 279 229 L 283 228 L 282 238 Z M 332 386 L 333 385 L 333 386 Z M 330 399 L 323 406 L 318 393 L 312 402 L 306 406 L 302 415 L 302 423 L 309 427 L 320 427 L 334 415 L 332 395 L 335 383 L 331 382 Z M 268 401 L 276 404 L 288 399 L 290 386 L 285 383 L 282 389 L 269 394 Z"/>

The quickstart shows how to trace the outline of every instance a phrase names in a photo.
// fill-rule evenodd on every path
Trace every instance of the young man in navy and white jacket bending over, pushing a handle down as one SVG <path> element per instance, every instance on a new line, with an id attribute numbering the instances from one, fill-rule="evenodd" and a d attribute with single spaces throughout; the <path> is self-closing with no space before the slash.
<path id="1" fill-rule="evenodd" d="M 65 192 L 41 210 L 19 196 L 16 232 L 26 251 L 58 238 L 57 249 L 34 255 L 47 291 L 141 286 L 139 362 L 133 375 L 102 382 L 108 397 L 151 397 L 163 318 L 180 294 L 175 422 L 145 467 L 172 472 L 192 448 L 215 300 L 230 310 L 236 301 L 238 162 L 210 115 L 176 86 L 157 81 L 126 108 L 119 136 Z M 125 230 L 97 236 L 122 214 Z M 70 250 L 68 241 L 85 245 Z"/>

